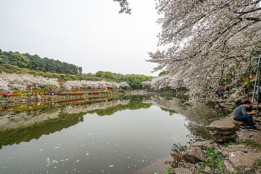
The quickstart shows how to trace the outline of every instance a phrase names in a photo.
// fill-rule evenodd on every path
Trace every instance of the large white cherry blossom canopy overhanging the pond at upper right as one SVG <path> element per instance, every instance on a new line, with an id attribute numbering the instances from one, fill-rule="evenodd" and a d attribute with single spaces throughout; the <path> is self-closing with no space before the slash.
<path id="1" fill-rule="evenodd" d="M 215 97 L 221 83 L 238 83 L 261 56 L 260 0 L 159 0 L 156 8 L 163 15 L 158 45 L 168 49 L 148 61 L 182 80 L 191 96 Z"/>

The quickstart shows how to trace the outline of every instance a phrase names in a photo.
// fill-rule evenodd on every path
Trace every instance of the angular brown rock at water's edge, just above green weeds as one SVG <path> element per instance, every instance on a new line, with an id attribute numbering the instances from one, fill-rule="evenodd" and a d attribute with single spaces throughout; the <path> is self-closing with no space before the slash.
<path id="1" fill-rule="evenodd" d="M 196 163 L 197 161 L 203 161 L 207 158 L 205 152 L 199 147 L 190 147 L 183 155 L 182 158 L 189 163 Z"/>

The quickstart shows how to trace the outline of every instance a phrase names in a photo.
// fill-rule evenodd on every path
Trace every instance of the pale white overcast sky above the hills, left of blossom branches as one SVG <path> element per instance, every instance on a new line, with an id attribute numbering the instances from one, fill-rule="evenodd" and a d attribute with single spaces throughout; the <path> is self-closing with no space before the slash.
<path id="1" fill-rule="evenodd" d="M 154 0 L 0 0 L 0 49 L 83 67 L 84 73 L 151 74 L 160 31 Z"/>

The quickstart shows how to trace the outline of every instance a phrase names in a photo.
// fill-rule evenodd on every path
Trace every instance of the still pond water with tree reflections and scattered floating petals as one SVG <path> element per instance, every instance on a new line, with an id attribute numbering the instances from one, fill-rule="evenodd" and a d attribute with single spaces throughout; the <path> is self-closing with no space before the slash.
<path id="1" fill-rule="evenodd" d="M 205 126 L 223 117 L 172 95 L 0 109 L 3 174 L 133 174 L 193 140 L 209 139 Z"/>

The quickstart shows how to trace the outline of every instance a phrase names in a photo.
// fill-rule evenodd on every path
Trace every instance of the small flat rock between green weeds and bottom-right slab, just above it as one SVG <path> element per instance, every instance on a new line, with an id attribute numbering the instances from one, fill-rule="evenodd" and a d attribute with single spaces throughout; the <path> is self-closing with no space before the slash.
<path id="1" fill-rule="evenodd" d="M 237 145 L 229 145 L 228 147 L 225 147 L 222 151 L 222 155 L 224 157 L 227 156 L 240 156 L 241 154 L 247 152 L 246 146 L 237 144 Z"/>

